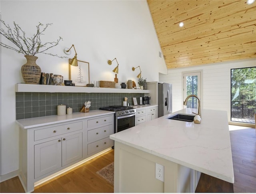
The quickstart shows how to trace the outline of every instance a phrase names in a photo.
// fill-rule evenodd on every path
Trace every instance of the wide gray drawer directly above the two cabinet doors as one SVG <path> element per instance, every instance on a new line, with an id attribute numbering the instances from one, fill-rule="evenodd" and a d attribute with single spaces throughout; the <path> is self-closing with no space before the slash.
<path id="1" fill-rule="evenodd" d="M 57 135 L 62 135 L 65 133 L 70 133 L 73 131 L 81 130 L 82 121 L 76 123 L 68 123 L 64 125 L 58 125 L 55 127 L 49 127 L 45 129 L 39 129 L 34 131 L 34 141 L 38 141 L 40 139 L 45 139 L 49 137 L 54 137 Z"/>

